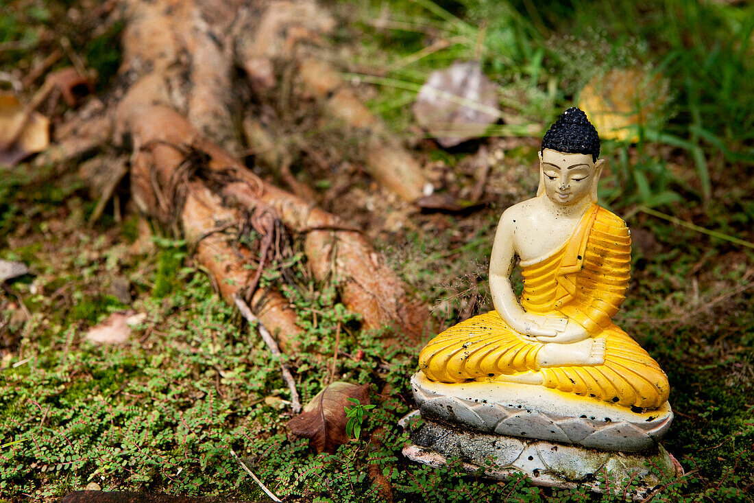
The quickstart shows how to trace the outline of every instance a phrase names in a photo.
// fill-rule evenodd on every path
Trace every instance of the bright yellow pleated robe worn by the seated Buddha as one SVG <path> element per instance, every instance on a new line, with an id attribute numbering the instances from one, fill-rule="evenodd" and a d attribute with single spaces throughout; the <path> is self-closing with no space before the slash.
<path id="1" fill-rule="evenodd" d="M 524 338 L 493 310 L 432 339 L 419 354 L 421 372 L 432 381 L 449 383 L 539 372 L 546 387 L 621 406 L 656 409 L 667 401 L 667 376 L 611 320 L 625 298 L 630 261 L 626 224 L 593 205 L 556 252 L 535 264 L 522 264 L 523 308 L 567 317 L 590 337 L 604 338 L 604 364 L 540 367 L 538 353 L 544 344 Z"/>

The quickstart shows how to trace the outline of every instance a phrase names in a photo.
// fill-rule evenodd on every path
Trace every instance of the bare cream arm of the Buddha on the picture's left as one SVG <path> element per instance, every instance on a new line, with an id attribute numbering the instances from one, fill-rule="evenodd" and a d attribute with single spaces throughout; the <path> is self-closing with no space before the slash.
<path id="1" fill-rule="evenodd" d="M 513 261 L 516 248 L 513 234 L 516 232 L 515 218 L 511 208 L 503 213 L 492 242 L 492 255 L 489 258 L 489 289 L 492 293 L 492 304 L 500 317 L 521 335 L 553 337 L 556 330 L 545 325 L 550 321 L 546 316 L 526 313 L 513 292 L 510 273 L 513 272 Z"/>

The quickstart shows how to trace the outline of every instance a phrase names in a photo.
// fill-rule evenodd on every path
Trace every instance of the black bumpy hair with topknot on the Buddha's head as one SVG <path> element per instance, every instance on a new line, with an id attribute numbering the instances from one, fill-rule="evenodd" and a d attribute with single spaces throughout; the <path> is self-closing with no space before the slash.
<path id="1" fill-rule="evenodd" d="M 542 138 L 542 148 L 562 153 L 583 153 L 599 157 L 599 134 L 587 114 L 572 106 L 563 112 Z"/>

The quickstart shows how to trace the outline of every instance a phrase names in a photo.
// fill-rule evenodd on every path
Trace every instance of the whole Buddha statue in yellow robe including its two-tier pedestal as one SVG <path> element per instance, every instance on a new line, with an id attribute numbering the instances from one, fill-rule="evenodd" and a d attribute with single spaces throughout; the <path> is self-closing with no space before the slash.
<path id="1" fill-rule="evenodd" d="M 542 140 L 537 196 L 500 218 L 489 264 L 495 310 L 419 354 L 418 410 L 399 421 L 406 458 L 633 499 L 683 474 L 660 443 L 673 421 L 667 376 L 612 322 L 628 289 L 631 236 L 597 204 L 602 165 L 594 126 L 566 110 Z"/>

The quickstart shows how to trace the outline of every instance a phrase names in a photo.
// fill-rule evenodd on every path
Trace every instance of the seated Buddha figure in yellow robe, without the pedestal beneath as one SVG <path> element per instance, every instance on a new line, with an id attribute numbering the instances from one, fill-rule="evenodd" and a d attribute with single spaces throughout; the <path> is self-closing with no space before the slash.
<path id="1" fill-rule="evenodd" d="M 537 196 L 507 208 L 498 224 L 495 310 L 433 338 L 419 355 L 427 378 L 544 386 L 636 412 L 667 402 L 665 373 L 611 319 L 628 289 L 631 237 L 597 204 L 598 157 L 586 114 L 566 110 L 542 140 Z M 520 298 L 510 282 L 516 257 Z"/>

